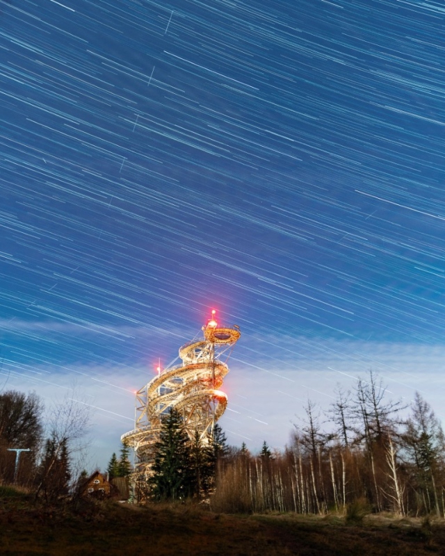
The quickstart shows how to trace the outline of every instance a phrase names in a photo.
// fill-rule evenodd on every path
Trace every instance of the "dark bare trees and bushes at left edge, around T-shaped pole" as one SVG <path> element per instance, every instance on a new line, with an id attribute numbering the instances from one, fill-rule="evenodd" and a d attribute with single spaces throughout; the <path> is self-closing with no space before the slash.
<path id="1" fill-rule="evenodd" d="M 44 502 L 72 497 L 74 452 L 88 428 L 88 411 L 71 398 L 47 411 L 35 393 L 0 393 L 0 485 L 24 486 Z"/>

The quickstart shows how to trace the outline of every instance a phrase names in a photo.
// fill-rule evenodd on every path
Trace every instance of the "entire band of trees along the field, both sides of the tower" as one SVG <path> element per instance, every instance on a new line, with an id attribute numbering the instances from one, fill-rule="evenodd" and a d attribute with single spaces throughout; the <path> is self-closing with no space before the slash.
<path id="1" fill-rule="evenodd" d="M 388 400 L 372 372 L 335 396 L 323 410 L 308 399 L 289 445 L 273 450 L 265 440 L 259 453 L 227 445 L 219 425 L 209 443 L 197 433 L 190 440 L 172 409 L 152 475 L 136 481 L 133 502 L 191 500 L 227 514 L 335 513 L 350 520 L 380 512 L 445 517 L 445 439 L 428 402 L 419 393 L 409 407 Z M 33 393 L 0 394 L 0 485 L 21 485 L 54 504 L 75 497 L 88 475 L 79 466 L 79 440 L 89 416 L 62 404 L 44 434 L 43 409 Z M 30 451 L 17 458 L 10 448 Z M 111 456 L 106 472 L 131 476 L 127 447 Z"/>

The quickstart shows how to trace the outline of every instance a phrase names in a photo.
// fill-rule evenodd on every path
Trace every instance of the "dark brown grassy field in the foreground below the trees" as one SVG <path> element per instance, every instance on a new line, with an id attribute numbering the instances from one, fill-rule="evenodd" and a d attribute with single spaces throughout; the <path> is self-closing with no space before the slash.
<path id="1" fill-rule="evenodd" d="M 193 505 L 36 507 L 0 487 L 1 555 L 445 555 L 445 523 L 213 514 Z"/>

